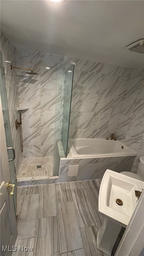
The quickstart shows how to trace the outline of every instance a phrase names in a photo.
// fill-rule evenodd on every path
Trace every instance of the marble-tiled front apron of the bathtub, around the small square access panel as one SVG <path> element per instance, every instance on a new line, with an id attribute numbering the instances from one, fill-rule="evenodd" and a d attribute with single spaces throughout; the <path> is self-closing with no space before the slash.
<path id="1" fill-rule="evenodd" d="M 58 182 L 102 179 L 106 169 L 116 172 L 131 171 L 136 156 L 62 159 Z M 69 165 L 79 165 L 78 175 L 68 177 Z M 57 182 L 57 181 L 56 181 Z"/>

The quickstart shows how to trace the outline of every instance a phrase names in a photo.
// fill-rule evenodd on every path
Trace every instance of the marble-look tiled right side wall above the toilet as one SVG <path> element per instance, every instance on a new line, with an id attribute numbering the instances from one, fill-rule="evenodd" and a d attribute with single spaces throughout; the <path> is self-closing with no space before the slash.
<path id="1" fill-rule="evenodd" d="M 131 170 L 136 172 L 138 158 L 144 155 L 144 68 L 125 68 L 121 75 L 121 90 L 125 86 L 126 92 L 117 138 L 137 153 Z"/>

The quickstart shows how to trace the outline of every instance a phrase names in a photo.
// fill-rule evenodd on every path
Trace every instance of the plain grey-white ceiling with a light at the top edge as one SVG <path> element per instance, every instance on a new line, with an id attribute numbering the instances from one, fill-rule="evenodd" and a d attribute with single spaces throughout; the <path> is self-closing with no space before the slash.
<path id="1" fill-rule="evenodd" d="M 126 50 L 144 37 L 144 1 L 1 0 L 1 30 L 15 47 L 144 65 L 144 54 Z"/>

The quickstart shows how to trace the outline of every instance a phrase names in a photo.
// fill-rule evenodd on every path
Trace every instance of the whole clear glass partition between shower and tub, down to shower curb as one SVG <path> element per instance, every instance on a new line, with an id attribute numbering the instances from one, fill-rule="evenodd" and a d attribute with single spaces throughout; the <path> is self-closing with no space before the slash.
<path id="1" fill-rule="evenodd" d="M 74 65 L 58 61 L 53 175 L 59 174 L 60 157 L 67 156 Z"/>

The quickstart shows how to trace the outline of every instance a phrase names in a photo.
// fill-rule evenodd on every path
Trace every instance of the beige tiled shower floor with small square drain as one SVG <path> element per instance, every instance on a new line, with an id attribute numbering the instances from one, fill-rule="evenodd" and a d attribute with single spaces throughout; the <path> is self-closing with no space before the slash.
<path id="1" fill-rule="evenodd" d="M 22 160 L 17 180 L 49 179 L 54 177 L 53 157 L 27 157 Z"/>

